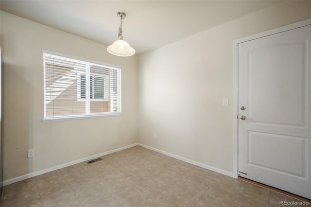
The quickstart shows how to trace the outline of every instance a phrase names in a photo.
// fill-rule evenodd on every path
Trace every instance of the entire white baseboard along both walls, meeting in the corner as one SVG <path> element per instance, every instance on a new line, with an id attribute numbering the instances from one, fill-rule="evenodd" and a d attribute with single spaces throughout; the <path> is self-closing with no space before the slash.
<path id="1" fill-rule="evenodd" d="M 100 153 L 100 154 L 97 154 L 97 155 L 88 156 L 88 157 L 81 158 L 81 159 L 78 159 L 78 160 L 74 160 L 74 161 L 71 161 L 71 162 L 68 162 L 68 163 L 64 163 L 64 164 L 61 164 L 61 165 L 56 165 L 56 166 L 51 167 L 51 168 L 47 168 L 47 169 L 44 169 L 44 170 L 40 170 L 40 171 L 36 171 L 36 172 L 33 172 L 33 173 L 28 173 L 28 174 L 24 174 L 24 175 L 21 175 L 21 176 L 18 176 L 18 177 L 14 177 L 14 178 L 11 178 L 11 179 L 8 179 L 8 180 L 4 180 L 3 181 L 3 186 L 6 186 L 6 185 L 9 185 L 9 184 L 12 184 L 12 183 L 16 183 L 18 181 L 25 180 L 27 178 L 35 177 L 35 176 L 40 175 L 40 174 L 49 173 L 49 172 L 52 172 L 52 171 L 55 171 L 55 170 L 59 170 L 61 168 L 65 168 L 65 167 L 68 167 L 70 165 L 75 165 L 75 164 L 78 164 L 80 162 L 85 162 L 87 160 L 94 159 L 94 158 L 97 158 L 97 157 L 100 157 L 100 156 L 104 156 L 104 155 L 115 153 L 115 152 L 118 152 L 118 151 L 121 151 L 121 150 L 125 150 L 127 148 L 134 147 L 134 146 L 137 146 L 137 145 L 141 146 L 141 147 L 144 147 L 144 148 L 147 148 L 147 149 L 150 149 L 150 150 L 153 150 L 155 152 L 161 153 L 163 155 L 168 155 L 168 156 L 171 156 L 173 158 L 182 160 L 184 162 L 188 162 L 188 163 L 190 163 L 192 165 L 196 165 L 196 166 L 205 168 L 207 170 L 211 170 L 211 171 L 214 171 L 214 172 L 217 172 L 217 173 L 221 173 L 221 174 L 225 174 L 227 176 L 233 177 L 233 173 L 232 172 L 228 172 L 228 171 L 224 171 L 224 170 L 221 170 L 221 169 L 218 169 L 218 168 L 214 168 L 214 167 L 208 166 L 206 164 L 203 164 L 203 163 L 200 163 L 200 162 L 197 162 L 197 161 L 193 161 L 191 159 L 187 159 L 185 157 L 181 157 L 181 156 L 178 156 L 178 155 L 174 155 L 172 153 L 168 153 L 168 152 L 165 152 L 163 150 L 159 150 L 159 149 L 156 149 L 154 147 L 150 147 L 150 146 L 147 146 L 147 145 L 144 145 L 144 144 L 141 144 L 141 143 L 134 143 L 134 144 L 130 144 L 130 145 L 127 145 L 127 146 L 124 146 L 124 147 L 120 147 L 120 148 L 117 148 L 117 149 L 114 149 L 114 150 L 110 150 L 110 151 L 107 151 L 107 152 L 104 152 L 104 153 Z"/>

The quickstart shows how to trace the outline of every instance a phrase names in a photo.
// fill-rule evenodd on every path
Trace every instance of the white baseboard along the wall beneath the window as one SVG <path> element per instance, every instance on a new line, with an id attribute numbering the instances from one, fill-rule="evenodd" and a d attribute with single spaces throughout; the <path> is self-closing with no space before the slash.
<path id="1" fill-rule="evenodd" d="M 18 181 L 25 180 L 27 178 L 35 177 L 35 176 L 40 175 L 40 174 L 49 173 L 49 172 L 52 172 L 52 171 L 55 171 L 55 170 L 59 170 L 61 168 L 65 168 L 65 167 L 68 167 L 70 165 L 78 164 L 80 162 L 85 162 L 87 160 L 94 159 L 94 158 L 97 158 L 97 157 L 100 157 L 100 156 L 104 156 L 104 155 L 115 153 L 115 152 L 118 152 L 118 151 L 121 151 L 121 150 L 125 150 L 127 148 L 134 147 L 134 146 L 137 146 L 137 145 L 138 145 L 138 143 L 130 144 L 130 145 L 127 145 L 127 146 L 124 146 L 124 147 L 120 147 L 120 148 L 117 148 L 117 149 L 114 149 L 114 150 L 110 150 L 110 151 L 107 151 L 107 152 L 104 152 L 104 153 L 88 156 L 88 157 L 81 158 L 81 159 L 78 159 L 78 160 L 74 160 L 74 161 L 71 161 L 71 162 L 68 162 L 68 163 L 64 163 L 64 164 L 61 164 L 61 165 L 56 165 L 56 166 L 51 167 L 51 168 L 47 168 L 47 169 L 44 169 L 44 170 L 40 170 L 40 171 L 36 171 L 36 172 L 33 172 L 33 173 L 28 173 L 28 174 L 24 174 L 24 175 L 21 175 L 21 176 L 18 176 L 18 177 L 14 177 L 14 178 L 11 178 L 11 179 L 8 179 L 8 180 L 4 180 L 3 181 L 3 186 L 6 186 L 6 185 L 9 185 L 9 184 L 12 184 L 12 183 L 16 183 Z"/>

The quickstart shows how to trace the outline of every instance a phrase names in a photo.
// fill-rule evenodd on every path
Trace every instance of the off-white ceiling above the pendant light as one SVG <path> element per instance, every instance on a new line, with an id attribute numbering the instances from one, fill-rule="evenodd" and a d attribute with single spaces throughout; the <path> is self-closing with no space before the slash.
<path id="1" fill-rule="evenodd" d="M 123 38 L 141 54 L 253 13 L 270 0 L 0 0 L 2 11 L 110 45 Z"/>

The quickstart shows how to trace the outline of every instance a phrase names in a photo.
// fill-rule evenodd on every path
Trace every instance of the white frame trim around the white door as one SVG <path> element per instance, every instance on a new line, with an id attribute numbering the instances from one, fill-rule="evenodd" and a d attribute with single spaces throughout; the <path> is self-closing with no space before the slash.
<path id="1" fill-rule="evenodd" d="M 238 97 L 238 72 L 239 72 L 239 44 L 243 42 L 247 42 L 250 40 L 258 39 L 265 36 L 275 35 L 278 33 L 286 32 L 289 30 L 297 29 L 299 27 L 304 27 L 311 25 L 311 18 L 299 21 L 293 24 L 289 24 L 286 26 L 282 26 L 276 29 L 272 29 L 269 31 L 261 32 L 255 35 L 250 35 L 246 37 L 242 37 L 240 39 L 234 40 L 234 116 L 233 116 L 233 127 L 234 127 L 234 135 L 233 135 L 233 169 L 232 169 L 232 176 L 234 178 L 238 178 L 238 155 L 239 155 L 239 145 L 238 145 L 238 112 L 239 112 L 239 97 Z"/>

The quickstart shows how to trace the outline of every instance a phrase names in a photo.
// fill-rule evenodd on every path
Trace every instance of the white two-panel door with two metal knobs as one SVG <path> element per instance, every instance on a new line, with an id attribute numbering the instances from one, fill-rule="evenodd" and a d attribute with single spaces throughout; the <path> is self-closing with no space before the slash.
<path id="1" fill-rule="evenodd" d="M 311 199 L 311 25 L 239 43 L 238 61 L 239 176 Z"/>

